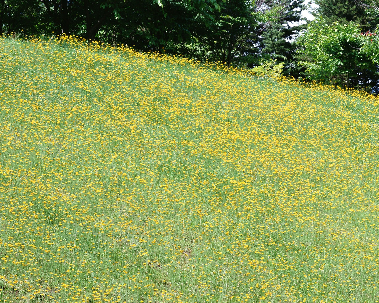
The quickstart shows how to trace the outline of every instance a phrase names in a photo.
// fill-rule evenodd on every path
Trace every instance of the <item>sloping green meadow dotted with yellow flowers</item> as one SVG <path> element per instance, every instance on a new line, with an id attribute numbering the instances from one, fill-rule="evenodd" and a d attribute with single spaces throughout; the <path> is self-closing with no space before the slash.
<path id="1" fill-rule="evenodd" d="M 379 100 L 0 39 L 0 301 L 379 301 Z"/>

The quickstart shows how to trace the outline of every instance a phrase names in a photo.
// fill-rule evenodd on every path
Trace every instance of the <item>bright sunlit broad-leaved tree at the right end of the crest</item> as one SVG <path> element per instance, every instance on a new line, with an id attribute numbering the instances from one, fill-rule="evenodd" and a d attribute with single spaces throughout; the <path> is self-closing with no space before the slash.
<path id="1" fill-rule="evenodd" d="M 319 18 L 310 23 L 298 39 L 302 47 L 299 64 L 306 68 L 307 78 L 346 88 L 375 86 L 377 65 L 360 51 L 360 33 L 359 25 L 353 22 L 327 24 Z"/>

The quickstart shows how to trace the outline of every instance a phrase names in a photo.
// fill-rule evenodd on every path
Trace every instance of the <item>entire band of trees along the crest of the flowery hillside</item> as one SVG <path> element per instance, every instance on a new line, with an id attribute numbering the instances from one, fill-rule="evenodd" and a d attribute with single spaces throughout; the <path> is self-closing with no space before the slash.
<path id="1" fill-rule="evenodd" d="M 280 65 L 282 74 L 379 90 L 379 1 L 0 0 L 0 34 L 75 35 L 226 66 Z M 370 36 L 371 34 L 371 36 Z"/>

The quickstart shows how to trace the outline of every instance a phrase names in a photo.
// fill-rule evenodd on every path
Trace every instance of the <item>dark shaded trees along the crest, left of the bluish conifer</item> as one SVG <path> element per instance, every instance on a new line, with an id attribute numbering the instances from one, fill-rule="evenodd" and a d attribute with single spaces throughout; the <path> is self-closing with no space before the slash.
<path id="1" fill-rule="evenodd" d="M 182 53 L 200 60 L 257 64 L 260 39 L 280 24 L 294 30 L 303 0 L 0 0 L 0 30 L 73 34 L 138 50 Z M 276 27 L 273 25 L 271 31 Z M 267 41 L 267 39 L 266 39 Z M 268 45 L 267 45 L 268 46 Z M 266 48 L 267 50 L 269 49 Z"/>

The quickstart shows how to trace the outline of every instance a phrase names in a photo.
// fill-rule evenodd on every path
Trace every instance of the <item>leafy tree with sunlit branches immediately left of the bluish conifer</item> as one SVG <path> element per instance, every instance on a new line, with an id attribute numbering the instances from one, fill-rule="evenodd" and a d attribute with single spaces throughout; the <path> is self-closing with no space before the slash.
<path id="1" fill-rule="evenodd" d="M 219 61 L 226 66 L 257 64 L 259 38 L 285 8 L 280 1 L 224 0 L 211 16 L 199 20 L 192 31 L 192 42 L 199 59 Z"/>

